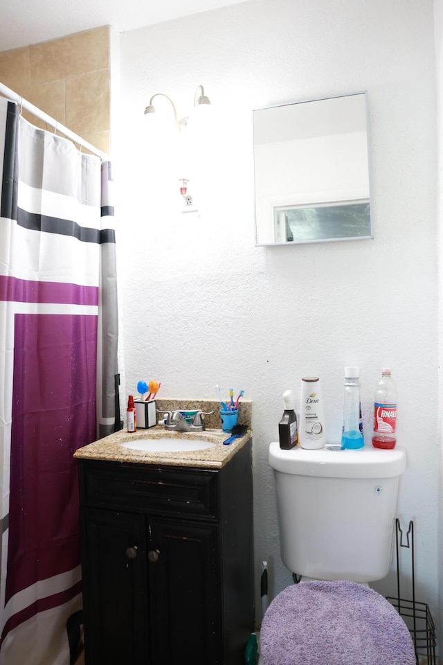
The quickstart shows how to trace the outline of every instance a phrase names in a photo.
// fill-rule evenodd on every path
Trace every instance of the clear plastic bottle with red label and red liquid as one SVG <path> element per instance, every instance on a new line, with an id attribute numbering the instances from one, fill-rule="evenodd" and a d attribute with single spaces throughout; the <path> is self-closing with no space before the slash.
<path id="1" fill-rule="evenodd" d="M 390 367 L 381 369 L 374 395 L 374 425 L 372 445 L 390 450 L 397 443 L 397 389 L 390 375 Z"/>

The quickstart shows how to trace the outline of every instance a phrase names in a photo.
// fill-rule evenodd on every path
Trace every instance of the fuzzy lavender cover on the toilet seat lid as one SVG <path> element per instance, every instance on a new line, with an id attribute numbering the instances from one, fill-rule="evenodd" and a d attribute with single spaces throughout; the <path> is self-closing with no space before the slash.
<path id="1" fill-rule="evenodd" d="M 260 631 L 264 665 L 415 665 L 406 623 L 374 589 L 302 582 L 269 605 Z"/>

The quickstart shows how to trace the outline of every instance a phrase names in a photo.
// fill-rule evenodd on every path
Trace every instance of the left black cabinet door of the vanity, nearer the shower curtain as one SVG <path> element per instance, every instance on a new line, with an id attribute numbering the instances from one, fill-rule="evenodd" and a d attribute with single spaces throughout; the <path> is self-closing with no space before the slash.
<path id="1" fill-rule="evenodd" d="M 146 517 L 82 511 L 85 665 L 147 665 Z"/>

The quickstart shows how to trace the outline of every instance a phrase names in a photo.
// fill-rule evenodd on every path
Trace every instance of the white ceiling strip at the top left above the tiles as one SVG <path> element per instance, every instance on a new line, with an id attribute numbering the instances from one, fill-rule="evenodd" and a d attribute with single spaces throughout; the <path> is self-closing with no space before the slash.
<path id="1" fill-rule="evenodd" d="M 119 32 L 239 0 L 0 0 L 0 52 L 99 26 Z"/>

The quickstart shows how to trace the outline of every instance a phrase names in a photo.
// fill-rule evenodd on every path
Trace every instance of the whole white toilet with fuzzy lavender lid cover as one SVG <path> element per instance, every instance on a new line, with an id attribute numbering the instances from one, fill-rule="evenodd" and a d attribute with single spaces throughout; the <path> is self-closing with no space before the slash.
<path id="1" fill-rule="evenodd" d="M 281 557 L 301 582 L 284 589 L 266 610 L 260 665 L 346 665 L 344 652 L 352 652 L 353 645 L 364 639 L 370 646 L 359 662 L 394 663 L 395 644 L 398 662 L 413 665 L 415 650 L 406 624 L 386 598 L 369 587 L 390 569 L 399 477 L 406 469 L 404 449 L 365 445 L 341 450 L 326 445 L 320 450 L 282 450 L 273 442 L 269 464 L 275 479 Z M 340 632 L 339 639 L 334 631 Z M 358 631 L 355 639 L 353 631 Z M 378 644 L 383 640 L 385 645 Z M 379 651 L 372 654 L 375 643 Z M 340 646 L 319 656 L 330 644 Z M 353 661 L 355 655 L 349 655 Z"/>

